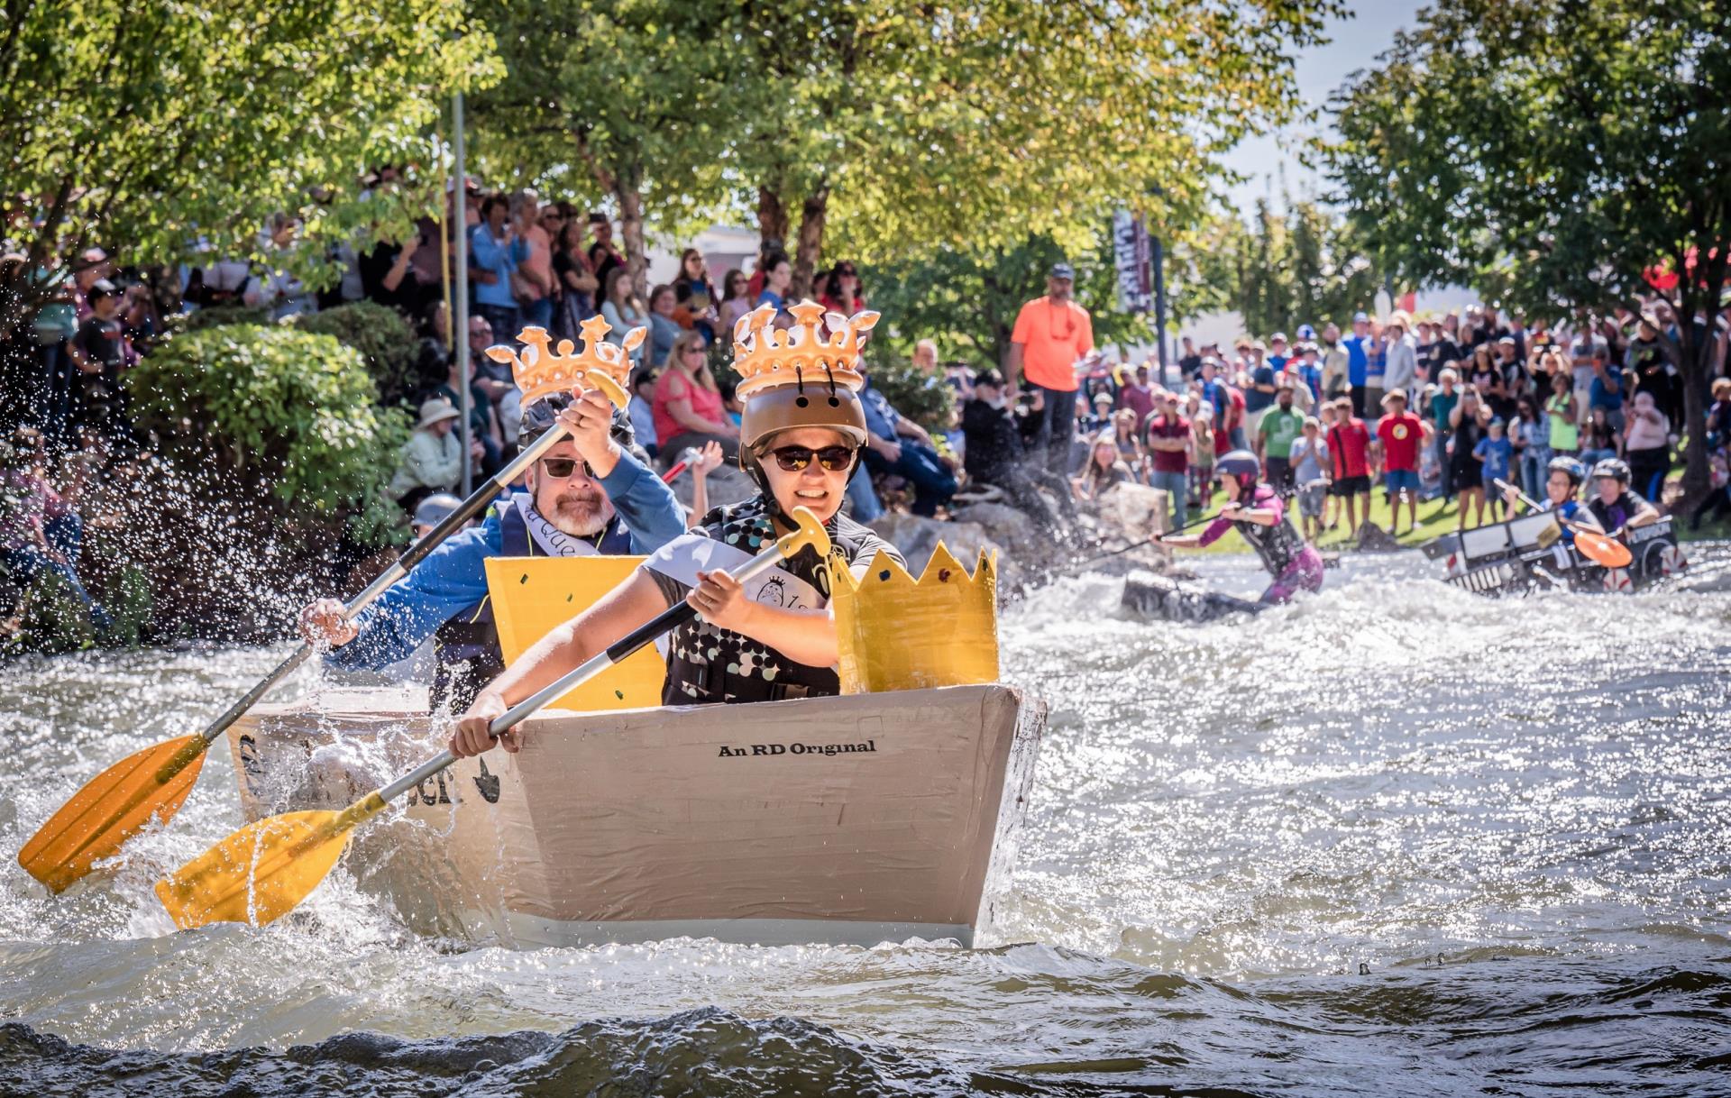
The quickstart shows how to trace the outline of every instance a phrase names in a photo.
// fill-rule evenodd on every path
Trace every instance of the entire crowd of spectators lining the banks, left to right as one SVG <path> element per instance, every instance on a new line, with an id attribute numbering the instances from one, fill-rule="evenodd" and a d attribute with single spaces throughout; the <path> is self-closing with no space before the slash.
<path id="1" fill-rule="evenodd" d="M 381 173 L 377 185 L 389 184 L 391 175 Z M 52 293 L 23 329 L 5 333 L 14 352 L 26 348 L 7 355 L 19 376 L 5 379 L 26 398 L 9 402 L 0 426 L 28 430 L 26 449 L 40 455 L 31 485 L 9 487 L 9 499 L 40 502 L 26 507 L 40 521 L 9 520 L 0 546 L 9 563 L 40 570 L 76 558 L 76 537 L 68 542 L 73 523 L 55 525 L 66 513 L 55 511 L 52 492 L 36 488 L 50 485 L 62 455 L 140 442 L 132 436 L 121 376 L 175 313 L 199 308 L 246 307 L 282 319 L 369 300 L 398 310 L 419 339 L 417 383 L 405 393 L 417 419 L 389 485 L 409 511 L 459 487 L 466 457 L 459 386 L 467 386 L 471 409 L 467 461 L 490 475 L 512 454 L 519 393 L 509 367 L 483 352 L 524 326 L 554 339 L 578 339 L 595 315 L 611 326 L 609 339 L 647 327 L 649 338 L 632 352 L 630 419 L 639 443 L 663 468 L 692 450 L 720 452 L 725 462 L 737 457 L 739 405 L 725 345 L 753 308 L 774 307 L 789 322 L 793 267 L 779 242 L 765 241 L 750 272 L 720 277 L 689 248 L 670 282 L 639 293 L 602 213 L 544 203 L 531 191 L 483 192 L 466 180 L 452 189 L 447 215 L 467 241 L 466 379 L 457 378 L 447 334 L 455 248 L 436 218 L 400 242 L 358 255 L 332 249 L 325 258 L 341 277 L 324 291 L 301 284 L 289 263 L 215 256 L 145 277 L 92 249 L 69 270 L 29 272 Z M 306 246 L 298 234 L 293 216 L 273 218 L 260 236 L 261 255 Z M 14 274 L 23 263 L 0 256 Z M 957 494 L 995 494 L 1052 537 L 1066 537 L 1078 502 L 1129 481 L 1167 492 L 1174 523 L 1184 525 L 1212 495 L 1217 457 L 1241 449 L 1253 450 L 1267 481 L 1297 501 L 1310 537 L 1343 520 L 1348 532 L 1359 530 L 1378 487 L 1393 504 L 1395 530 L 1402 509 L 1409 528 L 1418 525 L 1419 501 L 1458 507 L 1461 526 L 1494 520 L 1503 502 L 1489 485 L 1506 478 L 1541 495 L 1546 462 L 1558 454 L 1589 464 L 1624 457 L 1634 488 L 1662 501 L 1683 430 L 1676 319 L 1663 301 L 1544 326 L 1475 305 L 1418 319 L 1399 310 L 1383 320 L 1357 313 L 1345 331 L 1303 324 L 1291 339 L 1272 333 L 1231 346 L 1184 338 L 1177 378 L 1168 379 L 1151 362 L 1120 364 L 1097 350 L 1092 317 L 1073 300 L 1071 268 L 1058 263 L 1047 275 L 1047 293 L 1016 317 L 1002 371 L 942 367 L 931 341 L 916 346 L 912 367 L 923 383 L 954 390 L 947 423 L 904 414 L 867 365 L 862 404 L 871 438 L 864 475 L 848 488 L 855 518 L 872 521 L 897 502 L 943 518 Z M 846 262 L 819 272 L 814 296 L 845 315 L 866 307 L 859 272 Z M 1715 374 L 1728 327 L 1721 317 Z M 867 348 L 867 362 L 874 358 Z M 1724 507 L 1731 379 L 1715 383 L 1712 400 L 1708 440 L 1715 501 Z"/>

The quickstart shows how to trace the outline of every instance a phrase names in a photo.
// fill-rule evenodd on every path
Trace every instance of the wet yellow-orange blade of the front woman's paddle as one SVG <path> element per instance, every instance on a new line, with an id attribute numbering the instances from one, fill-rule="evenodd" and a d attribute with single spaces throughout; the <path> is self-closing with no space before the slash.
<path id="1" fill-rule="evenodd" d="M 384 800 L 369 793 L 341 812 L 267 816 L 158 882 L 156 895 L 182 930 L 263 927 L 294 911 L 343 857 L 355 824 L 383 809 Z"/>

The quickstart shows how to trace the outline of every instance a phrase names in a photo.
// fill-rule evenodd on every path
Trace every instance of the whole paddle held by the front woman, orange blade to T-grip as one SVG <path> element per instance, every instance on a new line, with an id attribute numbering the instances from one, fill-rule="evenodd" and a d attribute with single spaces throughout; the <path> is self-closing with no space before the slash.
<path id="1" fill-rule="evenodd" d="M 798 528 L 756 554 L 734 575 L 736 580 L 751 580 L 807 546 L 815 547 L 819 554 L 829 552 L 829 535 L 815 514 L 796 507 L 793 518 Z M 675 603 L 620 637 L 606 651 L 566 672 L 557 682 L 518 701 L 493 719 L 490 731 L 499 736 L 573 686 L 608 670 L 696 615 L 696 608 L 689 603 Z M 383 790 L 374 790 L 338 812 L 284 812 L 251 823 L 158 882 L 156 895 L 182 930 L 206 923 L 261 927 L 277 920 L 293 911 L 331 873 L 357 826 L 383 812 L 391 798 L 454 762 L 457 757 L 450 750 L 440 752 Z"/>

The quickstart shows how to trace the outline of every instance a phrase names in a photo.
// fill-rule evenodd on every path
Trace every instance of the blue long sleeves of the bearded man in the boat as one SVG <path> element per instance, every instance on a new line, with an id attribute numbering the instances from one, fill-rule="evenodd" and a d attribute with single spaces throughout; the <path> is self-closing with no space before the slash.
<path id="1" fill-rule="evenodd" d="M 651 554 L 685 532 L 673 490 L 628 452 L 601 478 L 601 488 L 630 530 L 632 552 Z M 509 497 L 500 497 L 500 506 Z M 479 526 L 459 530 L 415 565 L 403 580 L 355 617 L 358 634 L 325 656 L 325 667 L 377 670 L 407 658 L 454 615 L 486 597 L 490 556 L 504 554 L 499 507 Z"/>

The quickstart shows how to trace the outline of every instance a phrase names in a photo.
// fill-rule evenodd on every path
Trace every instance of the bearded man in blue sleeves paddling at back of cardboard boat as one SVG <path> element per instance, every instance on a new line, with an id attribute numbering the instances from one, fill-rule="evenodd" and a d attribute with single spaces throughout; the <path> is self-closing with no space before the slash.
<path id="1" fill-rule="evenodd" d="M 495 504 L 486 521 L 454 533 L 400 584 L 343 620 L 343 603 L 301 610 L 301 636 L 332 646 L 327 667 L 379 670 L 433 637 L 433 708 L 460 712 L 504 670 L 486 558 L 649 554 L 685 530 L 673 490 L 634 454 L 630 419 L 599 390 L 547 397 L 523 412 L 528 447 L 554 417 L 571 430 L 524 475 L 526 492 Z"/>

